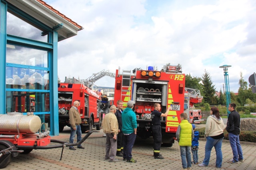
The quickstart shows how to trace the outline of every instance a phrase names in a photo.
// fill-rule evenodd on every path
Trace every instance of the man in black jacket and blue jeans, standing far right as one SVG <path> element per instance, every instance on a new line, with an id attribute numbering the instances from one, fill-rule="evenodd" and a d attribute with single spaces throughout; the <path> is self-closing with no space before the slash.
<path id="1" fill-rule="evenodd" d="M 240 115 L 235 109 L 236 104 L 229 104 L 228 110 L 230 114 L 228 116 L 226 130 L 228 131 L 228 139 L 233 151 L 233 159 L 228 160 L 228 163 L 231 164 L 237 164 L 238 161 L 244 162 L 243 151 L 239 141 Z"/>

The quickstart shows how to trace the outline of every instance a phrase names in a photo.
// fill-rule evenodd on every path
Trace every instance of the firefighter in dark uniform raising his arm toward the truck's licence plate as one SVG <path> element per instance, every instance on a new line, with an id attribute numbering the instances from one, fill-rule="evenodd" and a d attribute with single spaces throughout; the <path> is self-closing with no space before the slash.
<path id="1" fill-rule="evenodd" d="M 164 157 L 160 154 L 160 147 L 162 143 L 162 128 L 161 128 L 160 117 L 166 117 L 171 107 L 168 107 L 165 113 L 161 113 L 160 109 L 161 109 L 161 105 L 159 103 L 155 103 L 154 111 L 151 113 L 155 159 L 164 159 Z"/>

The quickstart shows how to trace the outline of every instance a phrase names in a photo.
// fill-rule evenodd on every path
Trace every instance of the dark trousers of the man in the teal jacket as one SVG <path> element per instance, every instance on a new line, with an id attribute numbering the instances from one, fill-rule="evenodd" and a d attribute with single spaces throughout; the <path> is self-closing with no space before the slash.
<path id="1" fill-rule="evenodd" d="M 127 160 L 131 160 L 132 158 L 132 147 L 134 145 L 136 139 L 135 133 L 131 133 L 130 135 L 124 135 L 124 158 Z"/>

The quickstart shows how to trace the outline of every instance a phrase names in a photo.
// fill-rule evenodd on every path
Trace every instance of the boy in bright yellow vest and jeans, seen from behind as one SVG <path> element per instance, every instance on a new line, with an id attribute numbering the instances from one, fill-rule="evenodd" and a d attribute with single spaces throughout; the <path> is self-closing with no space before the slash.
<path id="1" fill-rule="evenodd" d="M 191 168 L 191 154 L 190 147 L 192 139 L 194 138 L 194 131 L 192 125 L 188 123 L 187 113 L 180 114 L 180 124 L 176 132 L 176 140 L 180 145 L 180 156 L 182 161 L 182 170 L 190 170 Z"/>

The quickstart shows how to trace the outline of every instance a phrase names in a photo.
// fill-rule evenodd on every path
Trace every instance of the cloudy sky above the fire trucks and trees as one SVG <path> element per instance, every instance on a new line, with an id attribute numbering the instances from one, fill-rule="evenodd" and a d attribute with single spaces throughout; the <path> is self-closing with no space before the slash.
<path id="1" fill-rule="evenodd" d="M 58 43 L 58 76 L 86 79 L 101 70 L 115 73 L 166 63 L 185 74 L 207 70 L 216 90 L 228 68 L 230 91 L 240 72 L 248 82 L 256 64 L 255 0 L 44 0 L 84 27 Z M 75 3 L 76 2 L 76 3 Z M 114 87 L 104 77 L 97 86 Z M 223 89 L 222 89 L 223 91 Z"/>

